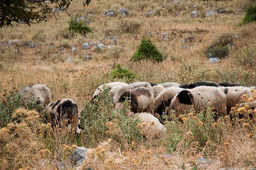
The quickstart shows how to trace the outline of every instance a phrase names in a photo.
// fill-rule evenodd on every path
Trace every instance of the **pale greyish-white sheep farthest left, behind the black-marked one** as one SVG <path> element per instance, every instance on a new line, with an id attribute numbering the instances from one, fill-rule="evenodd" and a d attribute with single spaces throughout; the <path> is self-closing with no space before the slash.
<path id="1" fill-rule="evenodd" d="M 50 89 L 44 84 L 36 84 L 35 86 L 25 86 L 17 94 L 22 94 L 21 102 L 35 98 L 37 104 L 49 104 L 52 102 Z"/>

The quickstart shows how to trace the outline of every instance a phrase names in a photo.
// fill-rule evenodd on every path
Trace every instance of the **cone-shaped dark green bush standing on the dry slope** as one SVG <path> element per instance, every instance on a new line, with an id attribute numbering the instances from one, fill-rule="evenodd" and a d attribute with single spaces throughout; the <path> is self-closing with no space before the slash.
<path id="1" fill-rule="evenodd" d="M 143 39 L 141 40 L 139 49 L 137 52 L 134 53 L 133 56 L 131 56 L 131 60 L 133 61 L 139 61 L 143 59 L 153 59 L 157 62 L 163 61 L 162 54 L 157 51 L 154 44 L 152 44 L 150 39 Z"/>

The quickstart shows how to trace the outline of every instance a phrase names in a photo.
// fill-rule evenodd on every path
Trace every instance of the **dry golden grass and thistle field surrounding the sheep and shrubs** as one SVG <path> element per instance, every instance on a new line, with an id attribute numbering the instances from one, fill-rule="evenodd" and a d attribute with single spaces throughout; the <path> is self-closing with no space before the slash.
<path id="1" fill-rule="evenodd" d="M 90 102 L 98 86 L 113 81 L 180 84 L 228 81 L 256 86 L 256 23 L 237 26 L 251 3 L 255 5 L 254 0 L 92 0 L 84 7 L 82 0 L 73 0 L 67 9 L 71 17 L 60 11 L 55 13 L 58 20 L 50 14 L 46 23 L 31 27 L 13 23 L 3 27 L 0 115 L 9 114 L 10 119 L 8 124 L 0 124 L 0 169 L 59 169 L 56 162 L 64 164 L 65 170 L 75 169 L 69 158 L 76 146 L 91 148 L 84 166 L 80 167 L 84 170 L 256 168 L 256 127 L 247 118 L 234 118 L 231 122 L 230 117 L 225 117 L 215 122 L 207 109 L 188 115 L 183 124 L 177 120 L 166 122 L 166 134 L 146 140 L 140 134 L 132 134 L 138 130 L 137 120 L 123 116 L 126 110 L 113 109 L 108 96 L 95 105 Z M 115 14 L 119 9 L 127 9 L 129 14 L 102 16 L 108 9 Z M 217 10 L 223 9 L 225 13 L 217 14 Z M 154 13 L 146 17 L 150 10 Z M 198 16 L 192 17 L 195 10 Z M 215 14 L 206 16 L 210 10 Z M 71 34 L 68 30 L 71 19 L 87 14 L 91 15 L 82 21 L 90 21 L 87 25 L 93 33 Z M 163 36 L 164 33 L 167 35 Z M 93 42 L 115 45 L 111 36 L 121 50 L 93 48 Z M 130 61 L 143 37 L 156 46 L 163 62 Z M 19 41 L 7 45 L 15 39 Z M 30 43 L 37 46 L 31 48 Z M 90 49 L 84 49 L 83 43 L 89 43 Z M 221 63 L 207 63 L 207 50 L 223 43 L 233 44 L 229 54 Z M 184 45 L 186 48 L 182 48 Z M 72 51 L 73 46 L 76 51 Z M 60 52 L 61 47 L 64 49 Z M 91 59 L 85 60 L 84 55 L 90 55 Z M 67 58 L 71 61 L 67 62 Z M 132 81 L 111 77 L 109 73 L 116 64 L 137 77 Z M 35 84 L 48 86 L 53 101 L 70 98 L 79 110 L 88 109 L 84 112 L 85 130 L 79 138 L 70 137 L 64 128 L 52 130 L 46 124 L 42 108 L 17 106 L 15 92 Z M 233 113 L 238 112 L 253 111 L 237 106 Z M 115 127 L 108 126 L 108 121 Z M 199 158 L 211 163 L 198 162 Z"/>

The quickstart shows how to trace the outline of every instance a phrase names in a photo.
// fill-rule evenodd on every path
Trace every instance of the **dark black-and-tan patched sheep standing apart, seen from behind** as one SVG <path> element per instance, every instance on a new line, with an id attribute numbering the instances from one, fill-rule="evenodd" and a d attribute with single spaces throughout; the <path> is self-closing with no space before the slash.
<path id="1" fill-rule="evenodd" d="M 45 108 L 45 117 L 53 127 L 66 119 L 68 125 L 71 124 L 72 128 L 77 128 L 79 122 L 78 107 L 73 100 L 64 98 L 49 103 Z"/>

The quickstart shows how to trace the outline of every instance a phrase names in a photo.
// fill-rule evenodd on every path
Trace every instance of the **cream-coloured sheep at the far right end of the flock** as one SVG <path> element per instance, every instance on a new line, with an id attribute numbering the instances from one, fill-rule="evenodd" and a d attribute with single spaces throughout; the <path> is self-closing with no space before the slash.
<path id="1" fill-rule="evenodd" d="M 250 98 L 253 88 L 244 86 L 219 87 L 227 97 L 227 114 L 229 114 L 232 107 L 236 107 L 236 104 L 241 104 L 242 95 L 247 95 Z"/>

